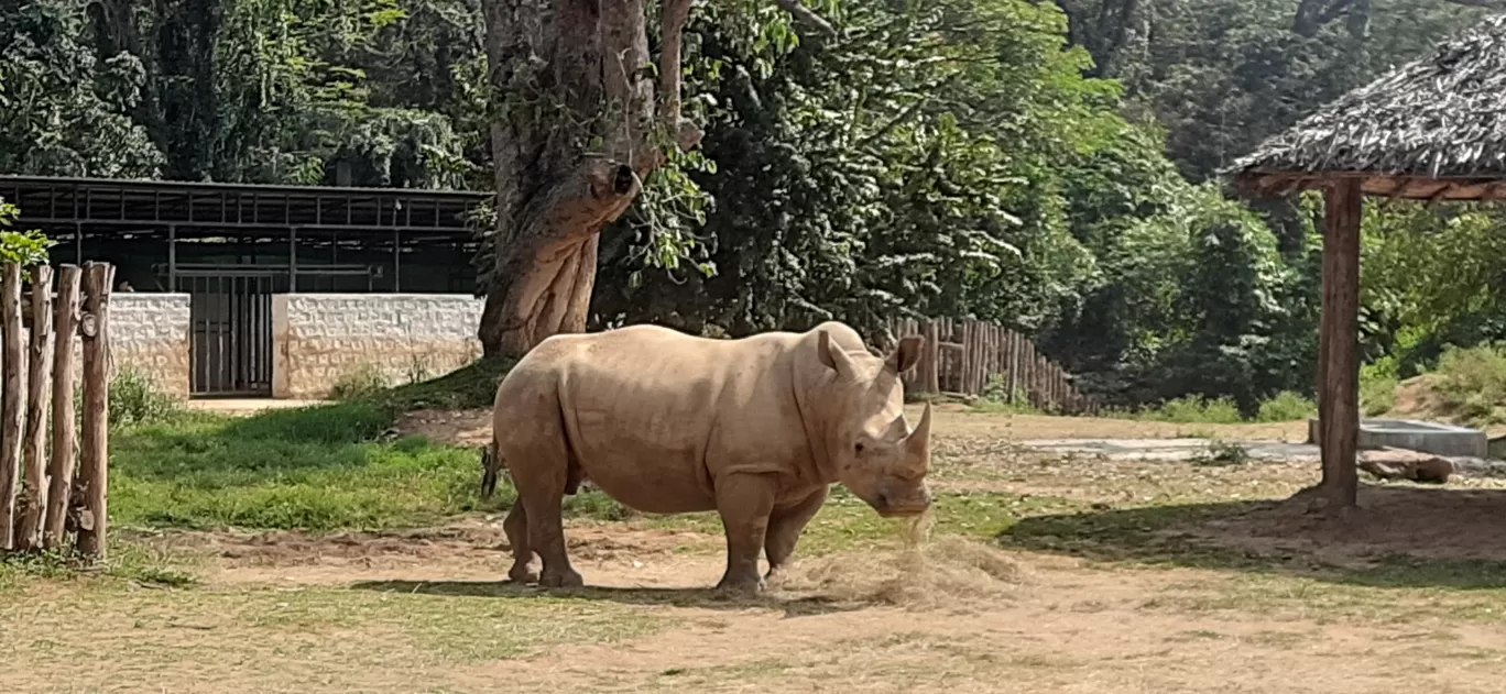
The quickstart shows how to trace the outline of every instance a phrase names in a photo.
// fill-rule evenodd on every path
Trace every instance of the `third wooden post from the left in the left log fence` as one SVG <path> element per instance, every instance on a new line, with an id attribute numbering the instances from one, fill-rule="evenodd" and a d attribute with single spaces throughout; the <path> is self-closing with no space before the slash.
<path id="1" fill-rule="evenodd" d="M 68 501 L 72 498 L 74 471 L 78 470 L 78 431 L 74 426 L 74 336 L 78 334 L 78 282 L 83 269 L 63 265 L 57 274 L 57 303 L 54 306 L 53 340 L 53 468 L 47 488 L 47 522 L 42 527 L 42 546 L 63 548 L 63 531 L 68 521 Z"/>

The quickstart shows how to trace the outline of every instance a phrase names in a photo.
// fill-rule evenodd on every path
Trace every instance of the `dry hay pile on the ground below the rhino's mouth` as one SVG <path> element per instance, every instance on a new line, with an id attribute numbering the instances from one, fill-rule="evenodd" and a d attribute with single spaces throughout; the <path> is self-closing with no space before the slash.
<path id="1" fill-rule="evenodd" d="M 821 593 L 836 601 L 907 608 L 940 608 L 1011 596 L 1020 565 L 1003 551 L 965 537 L 929 539 L 928 512 L 896 524 L 898 549 L 840 552 L 800 562 L 782 581 L 785 590 Z"/>

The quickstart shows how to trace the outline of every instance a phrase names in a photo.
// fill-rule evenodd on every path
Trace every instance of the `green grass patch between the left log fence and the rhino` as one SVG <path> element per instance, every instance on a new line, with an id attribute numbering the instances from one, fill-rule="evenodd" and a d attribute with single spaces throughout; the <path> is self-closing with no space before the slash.
<path id="1" fill-rule="evenodd" d="M 369 402 L 184 417 L 111 441 L 111 518 L 139 527 L 372 528 L 476 509 L 476 452 L 375 438 L 393 412 Z M 498 494 L 494 504 L 509 501 Z"/>

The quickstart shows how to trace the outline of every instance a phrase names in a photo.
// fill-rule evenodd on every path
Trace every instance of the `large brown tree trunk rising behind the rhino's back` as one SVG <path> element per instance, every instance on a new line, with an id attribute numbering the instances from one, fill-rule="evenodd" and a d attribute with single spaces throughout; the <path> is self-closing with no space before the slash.
<path id="1" fill-rule="evenodd" d="M 480 340 L 521 357 L 586 330 L 596 235 L 661 157 L 643 0 L 491 0 L 486 54 L 498 110 L 495 268 Z"/>

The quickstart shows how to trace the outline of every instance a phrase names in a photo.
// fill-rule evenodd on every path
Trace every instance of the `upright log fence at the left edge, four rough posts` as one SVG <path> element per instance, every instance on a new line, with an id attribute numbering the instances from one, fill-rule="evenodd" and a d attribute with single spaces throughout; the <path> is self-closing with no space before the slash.
<path id="1" fill-rule="evenodd" d="M 113 283 L 114 268 L 107 263 L 60 266 L 56 291 L 47 265 L 30 272 L 15 263 L 3 266 L 0 552 L 66 549 L 74 533 L 81 556 L 105 554 Z M 83 369 L 75 367 L 74 337 L 83 342 Z M 77 408 L 80 373 L 83 406 Z M 78 429 L 81 441 L 75 441 Z"/>

